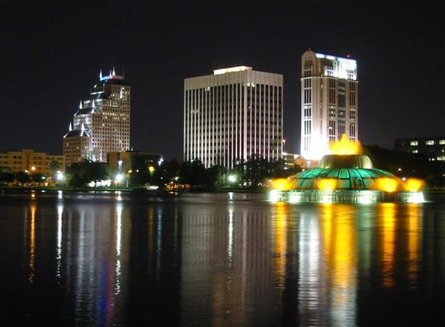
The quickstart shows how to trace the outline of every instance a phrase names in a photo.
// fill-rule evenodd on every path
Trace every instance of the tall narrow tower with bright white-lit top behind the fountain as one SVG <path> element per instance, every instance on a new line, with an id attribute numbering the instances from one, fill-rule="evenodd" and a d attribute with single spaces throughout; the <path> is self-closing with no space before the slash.
<path id="1" fill-rule="evenodd" d="M 358 140 L 357 62 L 318 54 L 301 57 L 301 154 L 318 160 L 346 134 Z"/>

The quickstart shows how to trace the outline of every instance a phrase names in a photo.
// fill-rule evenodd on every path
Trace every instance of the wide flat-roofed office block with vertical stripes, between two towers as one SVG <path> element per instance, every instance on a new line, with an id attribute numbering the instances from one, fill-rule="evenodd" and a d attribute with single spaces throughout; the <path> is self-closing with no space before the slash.
<path id="1" fill-rule="evenodd" d="M 184 80 L 184 160 L 232 168 L 235 159 L 282 155 L 283 76 L 252 67 Z"/>

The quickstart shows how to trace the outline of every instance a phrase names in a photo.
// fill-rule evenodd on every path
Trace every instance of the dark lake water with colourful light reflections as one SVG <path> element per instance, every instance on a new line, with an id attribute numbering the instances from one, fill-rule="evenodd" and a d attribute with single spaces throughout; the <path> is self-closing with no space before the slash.
<path id="1" fill-rule="evenodd" d="M 445 198 L 0 193 L 0 264 L 1 326 L 441 325 Z"/>

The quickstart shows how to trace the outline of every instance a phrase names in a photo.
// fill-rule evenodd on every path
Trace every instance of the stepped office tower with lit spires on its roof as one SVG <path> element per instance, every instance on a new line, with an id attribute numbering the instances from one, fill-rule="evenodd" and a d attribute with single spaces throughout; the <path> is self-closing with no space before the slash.
<path id="1" fill-rule="evenodd" d="M 67 166 L 82 159 L 106 162 L 111 151 L 130 149 L 130 86 L 115 70 L 92 87 L 81 101 L 70 130 L 63 136 Z"/>

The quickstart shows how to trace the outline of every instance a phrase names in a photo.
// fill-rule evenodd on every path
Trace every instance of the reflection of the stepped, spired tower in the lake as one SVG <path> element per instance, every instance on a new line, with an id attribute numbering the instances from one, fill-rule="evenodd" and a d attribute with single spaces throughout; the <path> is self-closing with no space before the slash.
<path id="1" fill-rule="evenodd" d="M 110 324 L 117 317 L 115 304 L 125 289 L 128 225 L 122 223 L 122 204 L 86 205 L 63 210 L 58 207 L 56 228 L 56 276 L 66 289 L 76 316 L 76 324 Z M 88 314 L 85 314 L 88 312 Z"/>

